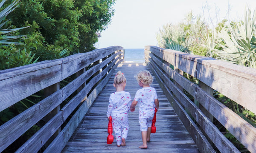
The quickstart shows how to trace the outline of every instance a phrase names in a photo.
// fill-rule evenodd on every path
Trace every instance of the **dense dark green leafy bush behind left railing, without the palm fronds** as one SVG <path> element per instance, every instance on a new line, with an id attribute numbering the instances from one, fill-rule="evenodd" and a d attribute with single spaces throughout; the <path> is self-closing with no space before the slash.
<path id="1" fill-rule="evenodd" d="M 31 26 L 21 31 L 21 34 L 29 34 L 34 39 L 31 42 L 32 49 L 35 53 L 39 52 L 36 57 L 40 56 L 39 60 L 45 60 L 48 57 L 43 59 L 41 53 L 42 50 L 46 51 L 49 48 L 51 49 L 49 54 L 58 54 L 64 49 L 72 54 L 95 49 L 93 45 L 98 41 L 97 33 L 105 30 L 113 16 L 114 2 L 114 0 L 20 0 L 20 7 L 16 8 L 9 17 L 15 26 Z M 42 48 L 42 45 L 48 47 Z M 54 58 L 58 58 L 58 55 Z"/>

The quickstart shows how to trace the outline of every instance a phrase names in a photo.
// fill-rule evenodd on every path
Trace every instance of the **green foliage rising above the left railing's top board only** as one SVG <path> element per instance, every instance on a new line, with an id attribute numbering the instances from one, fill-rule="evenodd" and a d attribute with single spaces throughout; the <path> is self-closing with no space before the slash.
<path id="1" fill-rule="evenodd" d="M 4 0 L 5 1 L 5 0 Z M 108 26 L 113 16 L 115 0 L 8 0 L 1 2 L 3 8 L 10 8 L 6 16 L 0 18 L 0 25 L 12 37 L 25 38 L 12 41 L 17 44 L 12 51 L 0 53 L 1 69 L 20 66 L 6 61 L 15 61 L 12 57 L 26 54 L 32 62 L 58 59 L 81 52 L 95 49 L 99 33 Z M 15 6 L 15 4 L 19 4 Z M 9 6 L 10 5 L 10 6 Z M 11 8 L 12 6 L 12 8 Z M 15 8 L 15 10 L 14 10 Z M 6 14 L 7 15 L 7 14 Z M 15 27 L 27 28 L 15 28 Z M 9 27 L 13 27 L 9 30 Z M 8 29 L 8 30 L 7 30 Z M 16 33 L 14 33 L 16 30 Z M 19 30 L 17 32 L 17 30 Z M 2 33 L 2 39 L 9 40 L 10 36 Z M 17 35 L 21 36 L 17 36 Z M 8 37 L 7 37 L 8 36 Z M 8 41 L 9 42 L 9 41 Z M 9 42 L 10 43 L 10 42 Z M 24 45 L 21 45 L 24 44 Z M 24 56 L 22 56 L 23 58 Z M 28 60 L 30 61 L 30 60 Z M 21 65 L 26 65 L 24 63 Z"/>

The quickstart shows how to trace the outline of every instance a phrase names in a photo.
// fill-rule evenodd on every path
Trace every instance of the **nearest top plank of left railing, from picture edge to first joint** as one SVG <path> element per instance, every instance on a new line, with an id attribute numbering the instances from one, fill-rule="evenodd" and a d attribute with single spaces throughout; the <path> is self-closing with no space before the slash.
<path id="1" fill-rule="evenodd" d="M 47 63 L 48 64 L 48 63 Z M 0 82 L 0 111 L 35 94 L 50 85 L 61 81 L 61 65 L 46 67 L 25 74 L 2 80 Z M 13 71 L 13 73 L 16 71 Z"/>

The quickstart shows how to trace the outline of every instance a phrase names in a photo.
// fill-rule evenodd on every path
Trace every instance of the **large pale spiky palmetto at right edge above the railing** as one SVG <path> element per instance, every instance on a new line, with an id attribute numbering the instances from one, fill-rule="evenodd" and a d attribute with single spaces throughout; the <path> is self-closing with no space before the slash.
<path id="1" fill-rule="evenodd" d="M 236 26 L 227 25 L 218 37 L 224 44 L 218 43 L 221 49 L 214 49 L 216 58 L 235 64 L 256 68 L 256 11 L 251 17 L 251 11 L 245 12 L 244 21 Z M 230 32 L 230 34 L 229 34 Z"/>

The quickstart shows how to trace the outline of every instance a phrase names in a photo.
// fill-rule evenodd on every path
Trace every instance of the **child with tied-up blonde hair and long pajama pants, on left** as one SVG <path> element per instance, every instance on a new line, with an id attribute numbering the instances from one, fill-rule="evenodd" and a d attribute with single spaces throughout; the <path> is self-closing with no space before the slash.
<path id="1" fill-rule="evenodd" d="M 131 95 L 124 91 L 126 78 L 121 71 L 116 73 L 113 86 L 116 92 L 109 97 L 107 116 L 112 117 L 113 130 L 116 136 L 116 145 L 125 146 L 125 140 L 129 130 L 128 111 L 130 111 Z"/>

